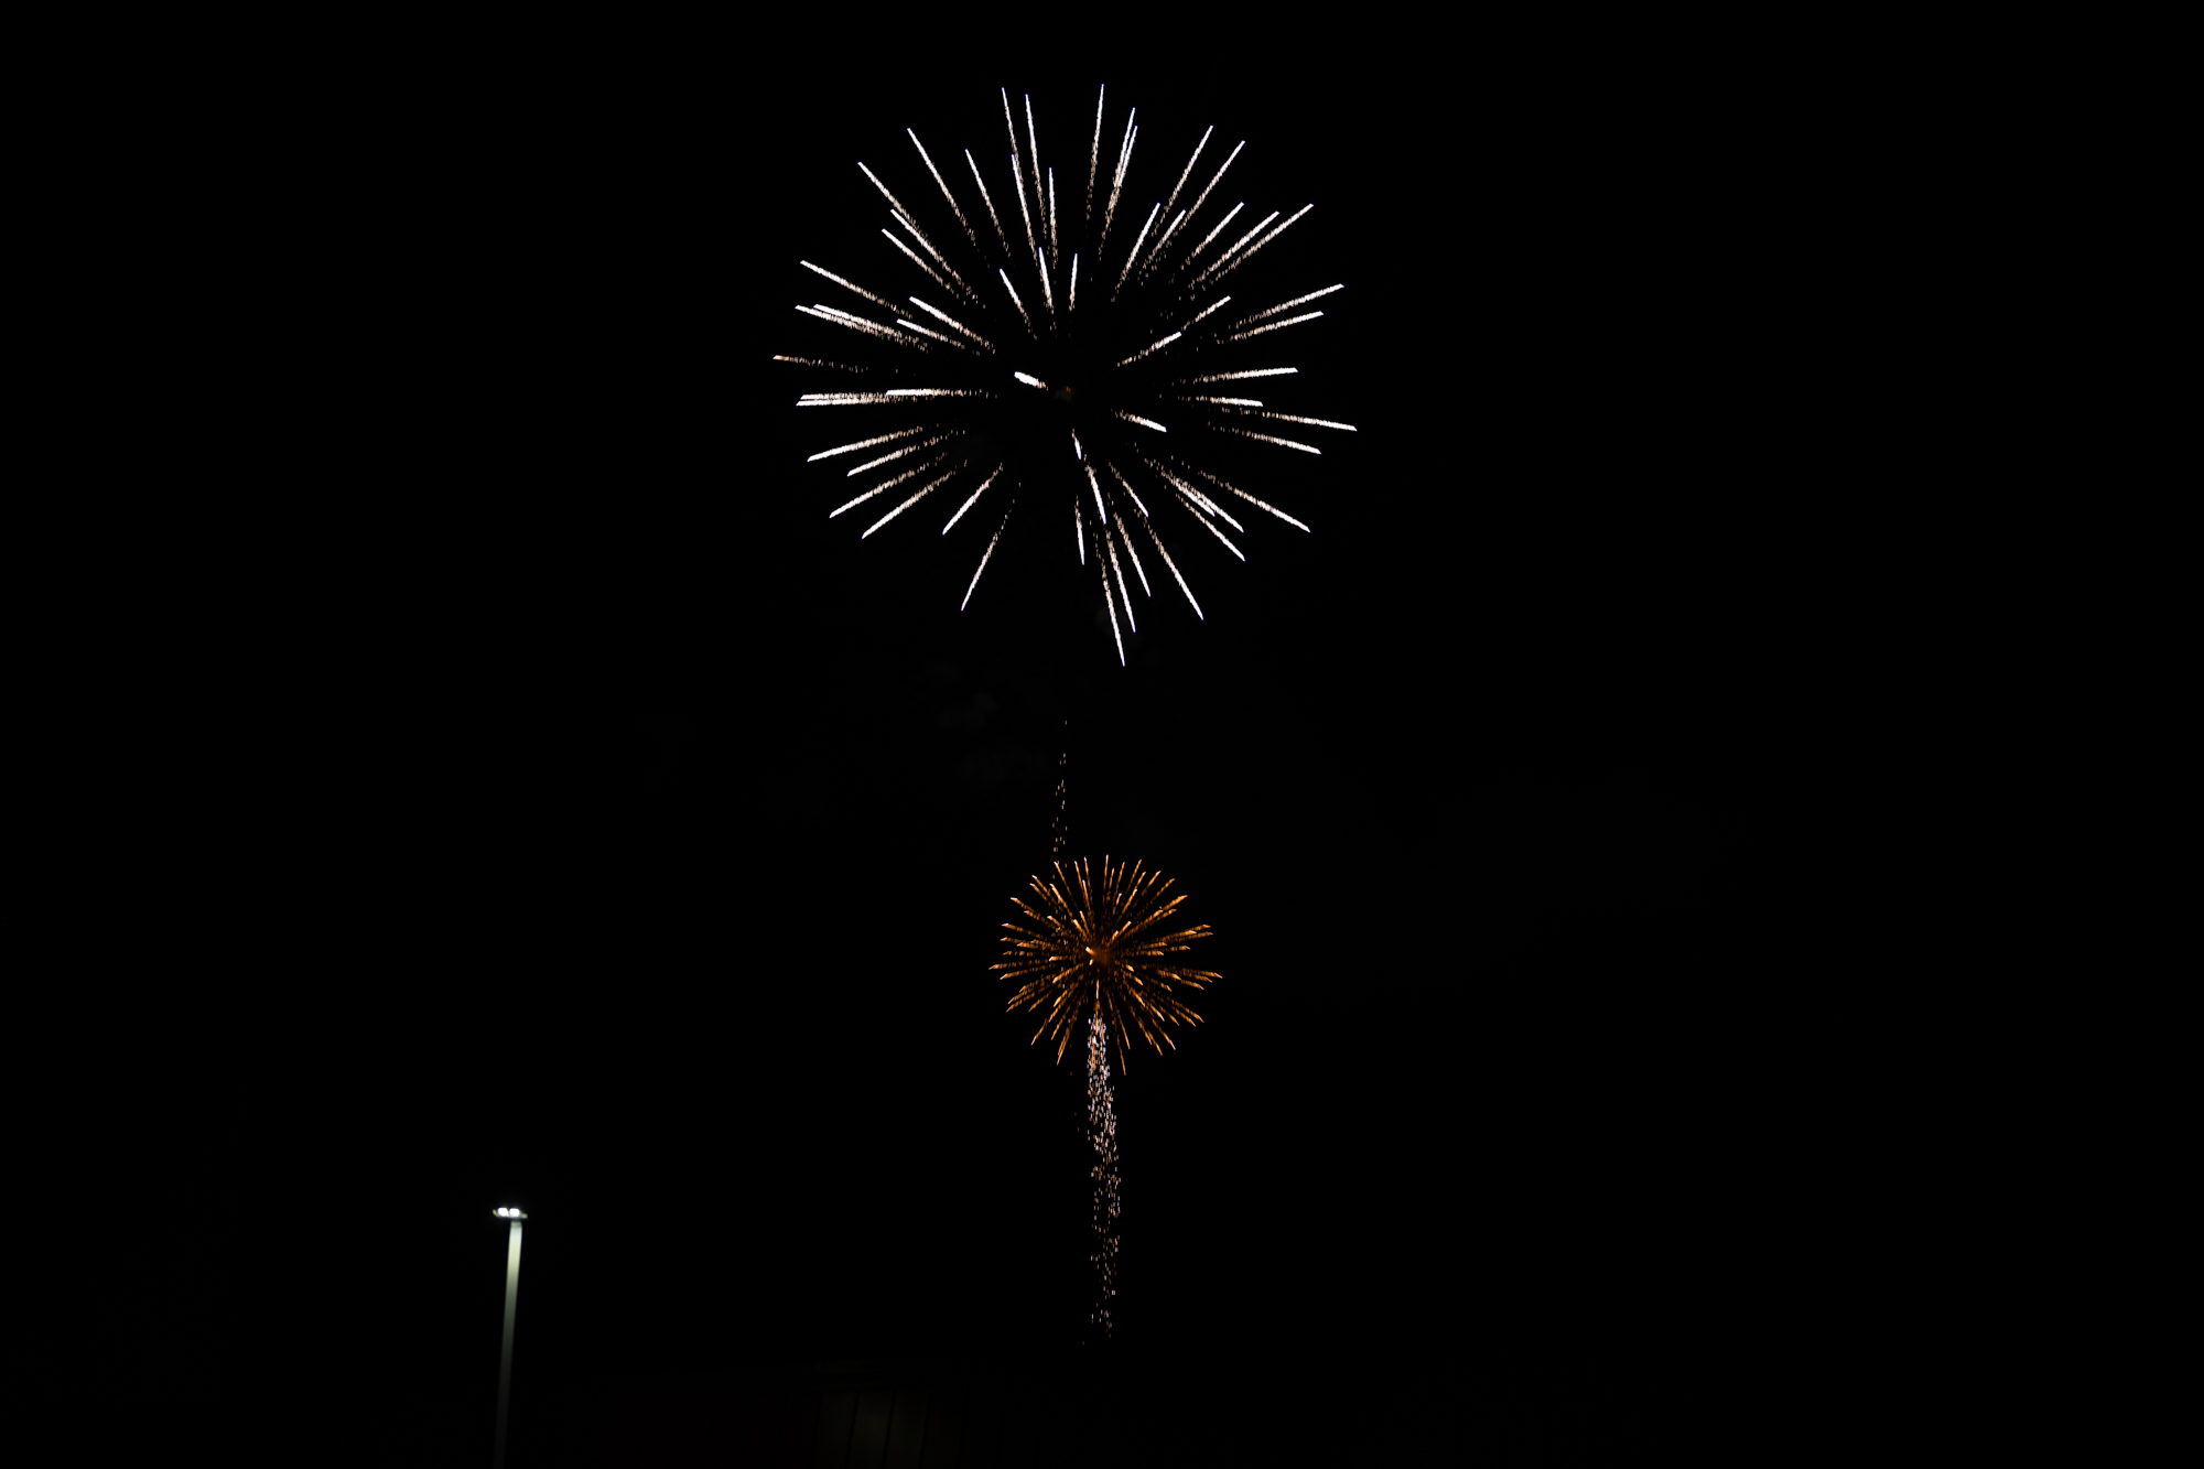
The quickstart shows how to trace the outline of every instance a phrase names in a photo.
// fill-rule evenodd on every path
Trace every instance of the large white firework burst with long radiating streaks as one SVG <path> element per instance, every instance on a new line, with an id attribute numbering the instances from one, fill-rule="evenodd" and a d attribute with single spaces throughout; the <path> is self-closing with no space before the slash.
<path id="1" fill-rule="evenodd" d="M 1258 382 L 1298 377 L 1296 366 L 1276 364 L 1281 337 L 1274 333 L 1320 320 L 1325 313 L 1311 302 L 1344 287 L 1270 304 L 1236 300 L 1230 289 L 1234 271 L 1314 205 L 1292 214 L 1272 210 L 1247 225 L 1245 201 L 1225 207 L 1225 194 L 1217 192 L 1245 141 L 1210 172 L 1201 168 L 1203 157 L 1214 159 L 1217 130 L 1210 128 L 1168 194 L 1133 227 L 1137 205 L 1120 216 L 1120 203 L 1137 196 L 1128 192 L 1128 174 L 1139 110 L 1133 108 L 1115 132 L 1115 165 L 1104 176 L 1106 95 L 1106 86 L 1095 95 L 1084 187 L 1076 170 L 1058 181 L 1056 168 L 1040 161 L 1031 97 L 1023 99 L 1020 117 L 1007 90 L 1007 159 L 996 154 L 983 168 L 968 148 L 968 172 L 957 172 L 954 157 L 943 172 L 906 128 L 915 152 L 906 170 L 875 172 L 860 163 L 888 205 L 882 234 L 895 254 L 886 267 L 901 271 L 904 282 L 882 278 L 875 291 L 804 260 L 802 267 L 831 291 L 829 300 L 796 309 L 820 322 L 822 335 L 838 337 L 838 346 L 855 349 L 846 355 L 862 362 L 820 355 L 776 362 L 860 379 L 798 399 L 800 408 L 849 410 L 862 421 L 849 443 L 811 454 L 811 461 L 862 459 L 822 470 L 853 492 L 833 496 L 840 503 L 829 518 L 864 507 L 860 534 L 868 538 L 939 496 L 941 507 L 954 507 L 941 525 L 946 536 L 992 494 L 1001 510 L 990 503 L 968 532 L 992 523 L 965 589 L 963 607 L 970 607 L 1018 496 L 1049 516 L 1069 507 L 1065 549 L 1100 578 L 1122 664 L 1124 626 L 1139 626 L 1133 589 L 1155 596 L 1146 554 L 1153 551 L 1201 618 L 1155 514 L 1190 516 L 1245 560 L 1234 536 L 1245 536 L 1247 527 L 1228 510 L 1232 501 L 1300 532 L 1309 527 L 1217 474 L 1219 450 L 1254 441 L 1320 454 L 1305 441 L 1314 437 L 1305 428 L 1355 430 L 1336 419 L 1283 412 L 1276 393 L 1298 384 Z M 901 194 L 884 172 L 910 176 L 899 179 Z M 1181 207 L 1181 199 L 1190 203 Z"/>

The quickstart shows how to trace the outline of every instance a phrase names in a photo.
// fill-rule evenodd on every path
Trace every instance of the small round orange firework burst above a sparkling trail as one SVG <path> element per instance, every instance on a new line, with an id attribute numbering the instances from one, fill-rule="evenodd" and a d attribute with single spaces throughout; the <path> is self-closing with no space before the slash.
<path id="1" fill-rule="evenodd" d="M 1166 900 L 1168 889 L 1168 878 L 1144 871 L 1139 862 L 1111 867 L 1102 858 L 1100 880 L 1089 876 L 1087 862 L 1073 862 L 1069 873 L 1058 862 L 1056 882 L 1034 878 L 1038 907 L 1012 898 L 1038 926 L 1003 924 L 1009 931 L 1005 962 L 994 968 L 1025 982 L 1009 997 L 1009 1008 L 1042 1010 L 1034 1039 L 1054 1034 L 1058 1061 L 1087 1015 L 1100 1015 L 1117 1034 L 1120 1065 L 1128 1034 L 1137 1032 L 1162 1052 L 1173 1043 L 1166 1026 L 1201 1023 L 1173 990 L 1199 990 L 1221 975 L 1177 968 L 1164 957 L 1184 953 L 1190 940 L 1210 937 L 1210 929 L 1155 933 L 1186 902 L 1184 893 Z"/>

